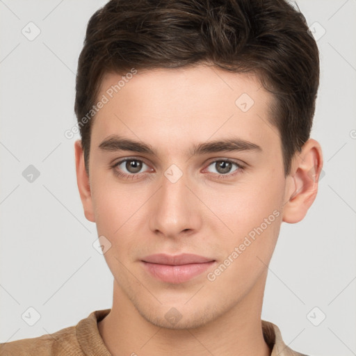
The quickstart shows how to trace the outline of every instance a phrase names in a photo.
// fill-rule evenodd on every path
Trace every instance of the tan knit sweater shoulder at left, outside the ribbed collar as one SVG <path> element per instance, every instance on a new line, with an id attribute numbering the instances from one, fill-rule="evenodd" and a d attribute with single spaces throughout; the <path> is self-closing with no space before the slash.
<path id="1" fill-rule="evenodd" d="M 76 327 L 65 327 L 53 334 L 0 343 L 1 356 L 83 355 L 76 339 Z"/>

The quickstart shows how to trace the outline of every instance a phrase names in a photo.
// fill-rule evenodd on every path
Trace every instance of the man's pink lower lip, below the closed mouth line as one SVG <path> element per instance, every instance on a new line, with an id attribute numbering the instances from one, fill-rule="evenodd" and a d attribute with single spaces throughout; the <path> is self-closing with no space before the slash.
<path id="1" fill-rule="evenodd" d="M 142 261 L 149 273 L 162 282 L 179 284 L 191 280 L 193 277 L 200 275 L 215 261 L 205 262 L 204 264 L 182 264 L 180 266 L 170 266 L 166 264 L 151 264 Z"/>

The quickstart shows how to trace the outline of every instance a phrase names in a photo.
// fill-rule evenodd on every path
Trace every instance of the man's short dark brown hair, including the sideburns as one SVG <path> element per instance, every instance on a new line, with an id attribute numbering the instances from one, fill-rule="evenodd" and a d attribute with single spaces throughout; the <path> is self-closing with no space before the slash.
<path id="1" fill-rule="evenodd" d="M 319 54 L 305 17 L 284 0 L 111 0 L 97 10 L 79 56 L 74 105 L 87 173 L 92 120 L 81 120 L 104 74 L 200 63 L 257 74 L 273 93 L 270 122 L 289 175 L 312 129 Z"/>

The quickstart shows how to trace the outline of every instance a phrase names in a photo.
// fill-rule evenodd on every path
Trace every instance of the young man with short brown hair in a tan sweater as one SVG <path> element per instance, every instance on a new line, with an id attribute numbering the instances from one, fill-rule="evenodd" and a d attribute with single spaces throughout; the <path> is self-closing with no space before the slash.
<path id="1" fill-rule="evenodd" d="M 1 355 L 301 355 L 261 321 L 314 202 L 316 42 L 284 0 L 109 1 L 79 57 L 76 175 L 113 306 Z"/>

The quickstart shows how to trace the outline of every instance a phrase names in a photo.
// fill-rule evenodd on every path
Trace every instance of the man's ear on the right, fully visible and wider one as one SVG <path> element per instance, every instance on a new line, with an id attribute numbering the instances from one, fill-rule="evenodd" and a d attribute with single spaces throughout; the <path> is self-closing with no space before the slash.
<path id="1" fill-rule="evenodd" d="M 282 220 L 294 224 L 302 220 L 318 193 L 318 180 L 323 168 L 319 143 L 309 138 L 302 151 L 294 156 L 291 174 L 287 177 Z"/>

